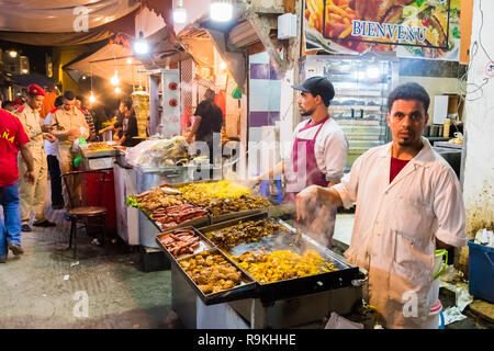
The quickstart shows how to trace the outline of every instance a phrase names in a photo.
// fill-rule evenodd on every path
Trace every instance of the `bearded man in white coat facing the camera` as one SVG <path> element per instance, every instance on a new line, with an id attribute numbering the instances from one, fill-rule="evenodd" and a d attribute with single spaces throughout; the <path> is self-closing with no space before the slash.
<path id="1" fill-rule="evenodd" d="M 422 137 L 429 102 L 417 83 L 397 87 L 388 100 L 393 140 L 359 157 L 340 184 L 310 186 L 296 197 L 297 219 L 323 204 L 357 203 L 345 256 L 369 272 L 369 302 L 386 328 L 435 327 L 435 250 L 467 241 L 458 178 Z"/>

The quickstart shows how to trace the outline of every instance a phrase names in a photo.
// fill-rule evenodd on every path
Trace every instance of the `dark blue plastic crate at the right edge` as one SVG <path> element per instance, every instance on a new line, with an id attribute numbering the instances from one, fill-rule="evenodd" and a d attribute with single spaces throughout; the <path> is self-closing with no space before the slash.
<path id="1" fill-rule="evenodd" d="M 494 303 L 494 248 L 469 240 L 470 295 Z"/>

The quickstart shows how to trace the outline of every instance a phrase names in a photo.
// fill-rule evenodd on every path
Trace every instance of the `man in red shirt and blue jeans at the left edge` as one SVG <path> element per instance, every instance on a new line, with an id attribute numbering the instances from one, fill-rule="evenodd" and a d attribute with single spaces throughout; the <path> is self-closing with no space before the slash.
<path id="1" fill-rule="evenodd" d="M 2 100 L 0 93 L 0 104 Z M 34 184 L 34 161 L 29 141 L 30 137 L 19 117 L 0 109 L 0 204 L 3 207 L 3 217 L 0 218 L 0 263 L 7 262 L 9 250 L 14 256 L 24 253 L 21 246 L 18 154 L 21 151 L 27 168 L 24 178 Z"/>

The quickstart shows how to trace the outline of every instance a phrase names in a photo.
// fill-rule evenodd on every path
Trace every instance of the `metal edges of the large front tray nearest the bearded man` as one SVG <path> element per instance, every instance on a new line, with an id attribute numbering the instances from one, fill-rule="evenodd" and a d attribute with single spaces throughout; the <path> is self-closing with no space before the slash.
<path id="1" fill-rule="evenodd" d="M 202 227 L 199 229 L 206 238 L 206 233 L 223 229 L 226 227 L 235 226 L 240 222 L 247 220 L 259 220 L 259 219 L 268 219 L 269 216 L 266 213 L 257 214 L 254 216 L 242 217 L 234 220 L 224 222 L 221 224 L 215 224 L 206 227 Z M 291 227 L 289 224 L 281 219 L 272 218 L 287 227 L 287 231 L 292 231 L 295 235 L 295 228 Z M 273 239 L 277 239 L 276 242 Z M 248 251 L 259 248 L 266 248 L 271 246 L 272 249 L 277 250 L 290 250 L 297 253 L 302 253 L 305 249 L 314 249 L 316 250 L 325 260 L 332 261 L 335 267 L 338 269 L 334 272 L 325 272 L 315 275 L 308 275 L 303 278 L 293 278 L 289 280 L 272 282 L 272 283 L 260 283 L 256 280 L 258 284 L 258 288 L 256 291 L 256 297 L 259 297 L 263 302 L 272 302 L 277 299 L 284 299 L 291 297 L 297 297 L 301 295 L 314 294 L 318 292 L 324 292 L 328 290 L 339 288 L 351 285 L 351 281 L 360 278 L 359 268 L 352 265 L 346 261 L 346 259 L 336 252 L 323 247 L 317 241 L 313 240 L 308 236 L 302 234 L 300 236 L 300 246 L 296 250 L 295 246 L 289 246 L 282 242 L 283 240 L 279 239 L 276 235 L 263 237 L 262 239 L 258 239 L 257 241 L 249 244 L 240 244 L 228 251 L 224 251 L 225 254 L 238 256 L 242 254 L 242 251 Z M 214 242 L 213 242 L 214 244 Z M 300 251 L 300 252 L 299 252 Z"/>

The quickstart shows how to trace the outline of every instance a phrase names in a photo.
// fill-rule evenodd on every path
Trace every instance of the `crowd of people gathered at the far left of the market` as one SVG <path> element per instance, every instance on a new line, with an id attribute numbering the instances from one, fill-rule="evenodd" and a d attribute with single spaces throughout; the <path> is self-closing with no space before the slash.
<path id="1" fill-rule="evenodd" d="M 0 263 L 7 261 L 9 250 L 23 253 L 21 231 L 35 227 L 53 227 L 46 218 L 45 196 L 49 176 L 52 208 L 64 210 L 80 205 L 70 201 L 69 193 L 80 191 L 76 182 L 65 189 L 61 174 L 74 170 L 77 156 L 76 140 L 103 139 L 101 127 L 106 115 L 88 109 L 86 100 L 72 90 L 61 94 L 55 84 L 45 89 L 30 84 L 21 98 L 4 101 L 0 94 L 0 203 L 3 222 L 0 223 Z M 130 98 L 122 99 L 116 120 L 114 141 L 134 146 L 137 120 Z M 34 219 L 32 216 L 34 215 Z"/>

